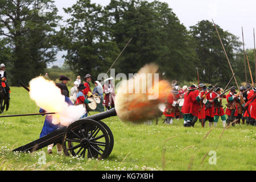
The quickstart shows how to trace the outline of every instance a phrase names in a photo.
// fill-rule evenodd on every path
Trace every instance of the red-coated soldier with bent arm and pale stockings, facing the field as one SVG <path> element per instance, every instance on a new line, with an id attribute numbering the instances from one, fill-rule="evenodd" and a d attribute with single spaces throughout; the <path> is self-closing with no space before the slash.
<path id="1" fill-rule="evenodd" d="M 222 108 L 222 98 L 226 98 L 225 95 L 220 96 L 222 89 L 220 87 L 216 88 L 215 94 L 216 97 L 214 97 L 214 127 L 217 127 L 218 118 L 221 117 L 222 126 L 226 126 L 226 116 L 224 109 Z"/>

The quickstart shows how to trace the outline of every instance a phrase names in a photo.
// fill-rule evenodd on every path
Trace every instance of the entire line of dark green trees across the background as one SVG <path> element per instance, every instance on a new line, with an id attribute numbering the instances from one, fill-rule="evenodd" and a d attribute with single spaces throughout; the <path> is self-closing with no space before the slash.
<path id="1" fill-rule="evenodd" d="M 170 81 L 197 82 L 196 68 L 200 82 L 225 86 L 232 77 L 213 23 L 201 20 L 187 30 L 167 3 L 112 0 L 103 7 L 78 0 L 64 11 L 70 18 L 61 23 L 52 0 L 0 1 L 0 61 L 6 65 L 11 86 L 44 74 L 58 51 L 67 52 L 65 64 L 76 75 L 90 73 L 97 78 L 131 38 L 113 67 L 115 73 L 136 73 L 154 62 Z M 217 28 L 237 81 L 245 82 L 242 43 Z M 255 77 L 253 49 L 246 53 Z M 246 72 L 251 82 L 248 67 Z"/>

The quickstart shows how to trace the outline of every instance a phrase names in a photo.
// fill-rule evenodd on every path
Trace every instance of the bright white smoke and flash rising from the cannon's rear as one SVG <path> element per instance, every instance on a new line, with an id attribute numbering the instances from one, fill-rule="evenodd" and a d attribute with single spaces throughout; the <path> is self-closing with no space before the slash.
<path id="1" fill-rule="evenodd" d="M 30 98 L 35 101 L 37 106 L 47 112 L 56 113 L 52 115 L 52 123 L 55 125 L 60 123 L 68 126 L 85 113 L 83 105 L 69 106 L 55 82 L 46 80 L 42 76 L 30 81 Z"/>

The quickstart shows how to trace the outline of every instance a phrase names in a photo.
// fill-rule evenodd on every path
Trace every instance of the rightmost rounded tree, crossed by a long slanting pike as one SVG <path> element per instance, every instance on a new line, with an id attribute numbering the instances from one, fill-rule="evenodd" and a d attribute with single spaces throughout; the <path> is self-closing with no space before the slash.
<path id="1" fill-rule="evenodd" d="M 225 86 L 232 77 L 232 72 L 213 23 L 202 20 L 190 28 L 191 35 L 195 39 L 195 49 L 199 56 L 196 66 L 199 68 L 200 81 L 210 84 L 218 82 L 218 86 Z M 233 67 L 237 60 L 236 53 L 241 50 L 242 44 L 237 36 L 222 30 L 219 26 L 217 26 L 217 29 Z"/>

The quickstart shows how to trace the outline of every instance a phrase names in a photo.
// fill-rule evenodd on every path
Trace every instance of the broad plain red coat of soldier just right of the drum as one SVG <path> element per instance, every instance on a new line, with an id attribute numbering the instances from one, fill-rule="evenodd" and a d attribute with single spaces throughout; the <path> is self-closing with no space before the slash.
<path id="1" fill-rule="evenodd" d="M 198 96 L 198 90 L 190 90 L 189 94 L 187 93 L 185 93 L 184 105 L 181 110 L 184 114 L 192 114 L 197 117 L 198 109 L 197 109 L 196 97 Z"/>

